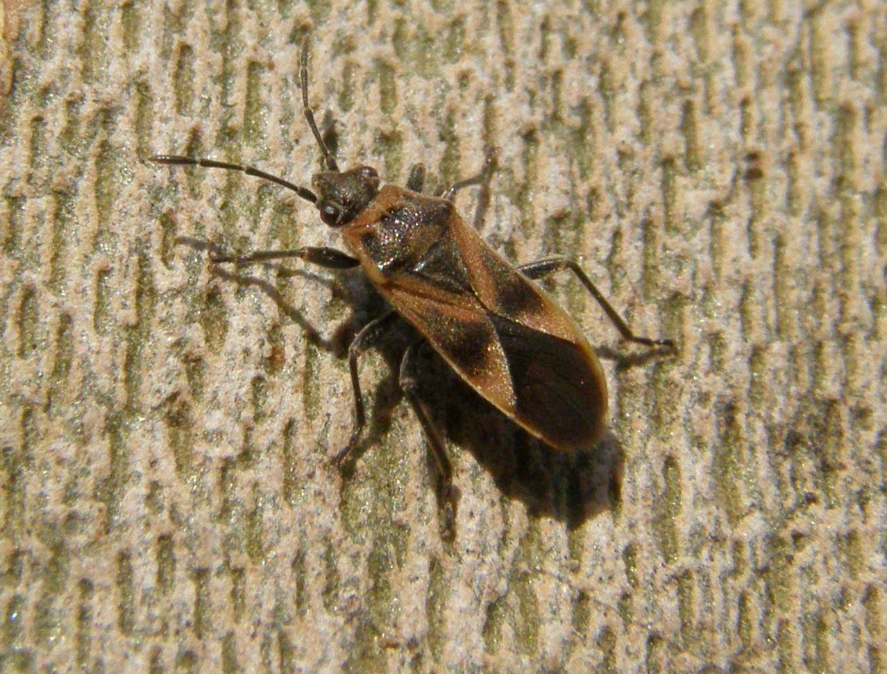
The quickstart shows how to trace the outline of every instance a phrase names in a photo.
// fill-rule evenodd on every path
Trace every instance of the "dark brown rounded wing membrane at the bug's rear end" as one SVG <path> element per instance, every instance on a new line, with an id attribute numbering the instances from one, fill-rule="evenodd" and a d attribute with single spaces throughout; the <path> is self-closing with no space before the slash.
<path id="1" fill-rule="evenodd" d="M 593 443 L 607 401 L 585 350 L 503 316 L 491 314 L 490 320 L 511 372 L 518 416 L 554 446 Z"/>

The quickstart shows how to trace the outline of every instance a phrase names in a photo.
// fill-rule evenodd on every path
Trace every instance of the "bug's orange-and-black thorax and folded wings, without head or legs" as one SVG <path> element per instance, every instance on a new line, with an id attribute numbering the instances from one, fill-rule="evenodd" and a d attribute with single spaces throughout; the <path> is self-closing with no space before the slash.
<path id="1" fill-rule="evenodd" d="M 344 234 L 391 306 L 485 399 L 558 449 L 600 438 L 607 385 L 585 337 L 451 204 L 386 186 Z"/>

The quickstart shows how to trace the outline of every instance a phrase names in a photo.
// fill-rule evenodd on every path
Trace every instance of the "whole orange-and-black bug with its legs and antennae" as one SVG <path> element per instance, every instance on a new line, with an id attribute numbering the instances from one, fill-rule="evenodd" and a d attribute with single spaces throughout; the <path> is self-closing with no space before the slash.
<path id="1" fill-rule="evenodd" d="M 607 419 L 607 382 L 582 331 L 533 280 L 561 270 L 577 276 L 626 340 L 672 346 L 670 339 L 637 337 L 573 260 L 548 258 L 514 267 L 467 226 L 453 205 L 457 191 L 483 182 L 484 174 L 454 183 L 437 195 L 423 192 L 425 167 L 410 170 L 406 187 L 380 186 L 372 167 L 341 171 L 326 147 L 308 102 L 308 40 L 302 44 L 302 109 L 326 170 L 301 187 L 253 167 L 214 159 L 157 155 L 159 164 L 242 171 L 293 190 L 315 205 L 320 220 L 339 229 L 349 252 L 303 247 L 243 256 L 211 255 L 213 264 L 244 265 L 301 258 L 331 269 L 361 267 L 390 306 L 368 323 L 348 352 L 354 390 L 354 429 L 337 455 L 344 458 L 365 429 L 358 359 L 404 319 L 421 340 L 407 347 L 399 383 L 422 425 L 440 474 L 443 530 L 454 531 L 455 489 L 450 459 L 423 407 L 416 386 L 416 353 L 431 345 L 475 391 L 554 449 L 591 448 Z M 488 159 L 487 167 L 491 166 Z"/>

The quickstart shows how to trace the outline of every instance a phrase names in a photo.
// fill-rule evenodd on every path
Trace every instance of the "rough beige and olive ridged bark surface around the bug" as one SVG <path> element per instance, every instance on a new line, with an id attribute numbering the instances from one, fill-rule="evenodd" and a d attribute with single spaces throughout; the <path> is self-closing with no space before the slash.
<path id="1" fill-rule="evenodd" d="M 0 670 L 887 669 L 883 3 L 4 3 Z M 593 453 L 531 442 L 426 359 L 455 543 L 361 276 L 242 174 L 499 170 L 483 236 L 607 372 Z M 478 190 L 457 203 L 473 221 Z"/>

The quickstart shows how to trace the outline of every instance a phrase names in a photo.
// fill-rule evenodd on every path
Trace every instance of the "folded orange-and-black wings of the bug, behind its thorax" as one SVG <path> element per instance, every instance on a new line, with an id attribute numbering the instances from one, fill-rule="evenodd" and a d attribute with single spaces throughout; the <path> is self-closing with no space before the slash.
<path id="1" fill-rule="evenodd" d="M 464 227 L 464 225 L 463 225 Z M 483 248 L 440 244 L 380 290 L 475 391 L 559 449 L 588 447 L 606 424 L 607 384 L 585 337 L 538 285 Z M 471 242 L 475 243 L 475 242 Z M 470 288 L 447 269 L 465 265 Z"/>

